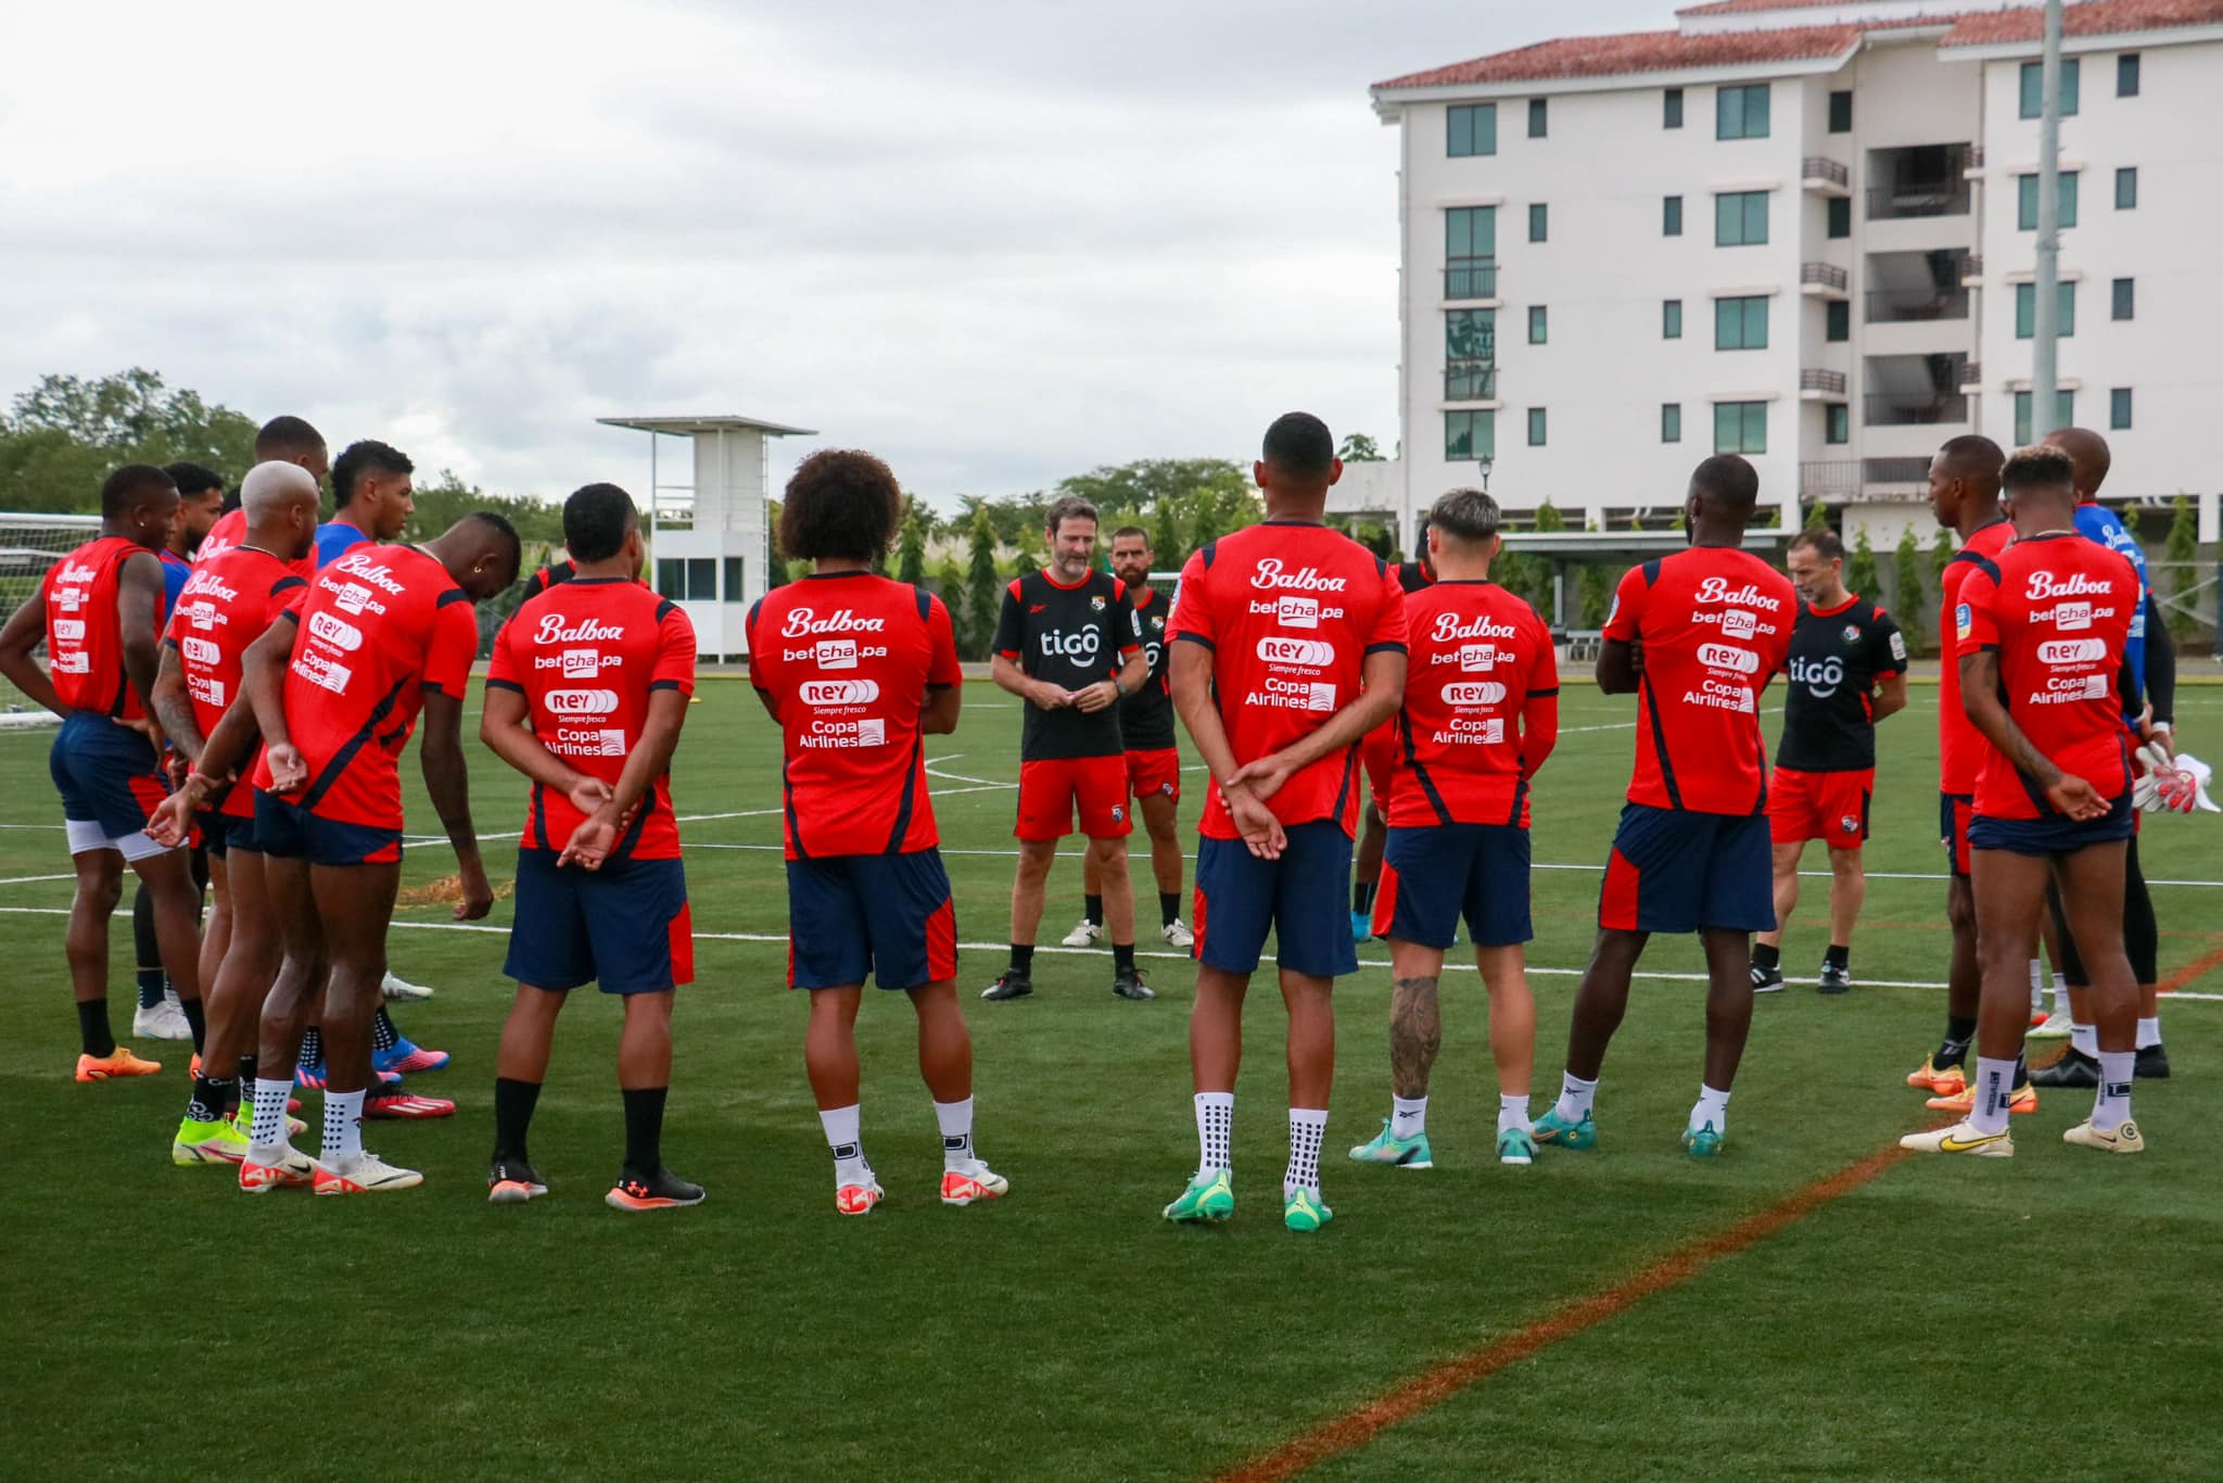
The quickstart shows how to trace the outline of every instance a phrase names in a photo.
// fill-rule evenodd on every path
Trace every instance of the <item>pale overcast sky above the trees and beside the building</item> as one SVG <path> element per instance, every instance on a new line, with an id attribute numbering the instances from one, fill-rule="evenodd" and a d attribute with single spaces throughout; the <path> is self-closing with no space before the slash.
<path id="1" fill-rule="evenodd" d="M 1667 24 L 1672 0 L 7 4 L 0 394 L 147 365 L 542 496 L 645 485 L 611 414 L 816 427 L 936 500 L 1247 458 L 1289 407 L 1387 447 L 1396 136 L 1367 84 Z"/>

